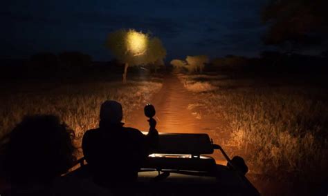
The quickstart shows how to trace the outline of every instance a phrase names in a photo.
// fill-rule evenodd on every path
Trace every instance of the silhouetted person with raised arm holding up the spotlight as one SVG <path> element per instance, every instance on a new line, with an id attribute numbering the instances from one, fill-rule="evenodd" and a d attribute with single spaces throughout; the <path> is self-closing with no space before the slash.
<path id="1" fill-rule="evenodd" d="M 99 128 L 88 130 L 82 140 L 84 157 L 101 186 L 131 184 L 150 150 L 156 146 L 156 121 L 149 119 L 149 133 L 123 126 L 122 106 L 105 101 L 100 108 Z"/>

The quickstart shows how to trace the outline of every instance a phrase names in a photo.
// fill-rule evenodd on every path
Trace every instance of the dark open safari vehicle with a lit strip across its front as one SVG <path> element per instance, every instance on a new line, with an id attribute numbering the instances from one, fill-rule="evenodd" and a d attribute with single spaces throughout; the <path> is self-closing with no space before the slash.
<path id="1" fill-rule="evenodd" d="M 148 108 L 149 109 L 149 108 Z M 154 110 L 154 108 L 151 108 Z M 154 111 L 147 111 L 149 118 Z M 219 150 L 228 162 L 210 157 Z M 128 156 L 128 155 L 127 155 Z M 87 170 L 84 159 L 78 170 Z M 115 168 L 113 168 L 115 169 Z M 158 146 L 140 168 L 136 195 L 259 195 L 245 171 L 207 134 L 159 133 Z"/>

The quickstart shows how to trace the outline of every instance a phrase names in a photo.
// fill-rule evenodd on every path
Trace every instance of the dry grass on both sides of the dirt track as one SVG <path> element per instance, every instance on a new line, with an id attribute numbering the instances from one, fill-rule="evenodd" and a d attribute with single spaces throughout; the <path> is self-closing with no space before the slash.
<path id="1" fill-rule="evenodd" d="M 227 122 L 229 137 L 223 141 L 224 148 L 230 157 L 244 157 L 250 168 L 248 177 L 264 195 L 275 195 L 268 194 L 272 190 L 277 190 L 277 194 L 295 194 L 295 188 L 300 186 L 311 192 L 327 180 L 325 84 L 302 77 L 256 78 L 214 73 L 179 75 L 179 79 L 185 88 L 199 95 L 194 104 L 206 106 L 206 112 Z M 3 85 L 0 138 L 24 115 L 53 114 L 75 130 L 75 143 L 80 146 L 84 131 L 98 126 L 102 101 L 120 101 L 124 121 L 129 121 L 131 112 L 149 101 L 161 87 L 162 79 L 158 77 L 136 77 L 125 85 L 119 79 Z M 281 192 L 285 187 L 275 186 L 276 182 L 290 186 L 289 190 Z"/>

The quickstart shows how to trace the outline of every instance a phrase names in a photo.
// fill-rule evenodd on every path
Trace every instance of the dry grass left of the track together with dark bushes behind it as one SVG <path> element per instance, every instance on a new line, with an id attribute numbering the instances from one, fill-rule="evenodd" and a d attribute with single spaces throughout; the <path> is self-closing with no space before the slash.
<path id="1" fill-rule="evenodd" d="M 57 55 L 44 53 L 31 57 L 23 66 L 16 65 L 16 70 L 3 67 L 6 77 L 1 78 L 0 138 L 5 138 L 24 115 L 51 114 L 75 131 L 75 146 L 80 147 L 84 131 L 98 127 L 103 101 L 120 101 L 125 114 L 123 120 L 129 122 L 131 111 L 146 104 L 161 89 L 159 75 L 154 77 L 140 69 L 131 69 L 130 80 L 122 84 L 122 66 L 115 61 L 78 66 L 75 62 L 86 56 L 65 52 L 59 57 L 66 61 L 64 68 L 57 71 L 51 71 L 57 67 L 58 62 L 54 62 Z M 88 58 L 82 61 L 89 62 Z M 39 69 L 33 69 L 35 65 Z M 51 67 L 46 70 L 42 66 Z M 143 77 L 139 72 L 143 72 Z"/>

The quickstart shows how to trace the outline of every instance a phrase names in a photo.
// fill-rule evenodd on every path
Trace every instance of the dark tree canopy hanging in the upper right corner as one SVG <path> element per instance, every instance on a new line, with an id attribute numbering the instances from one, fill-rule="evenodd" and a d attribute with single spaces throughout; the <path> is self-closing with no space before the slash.
<path id="1" fill-rule="evenodd" d="M 268 45 L 309 46 L 325 39 L 328 32 L 327 0 L 271 0 L 262 10 L 270 25 L 264 36 Z"/>

